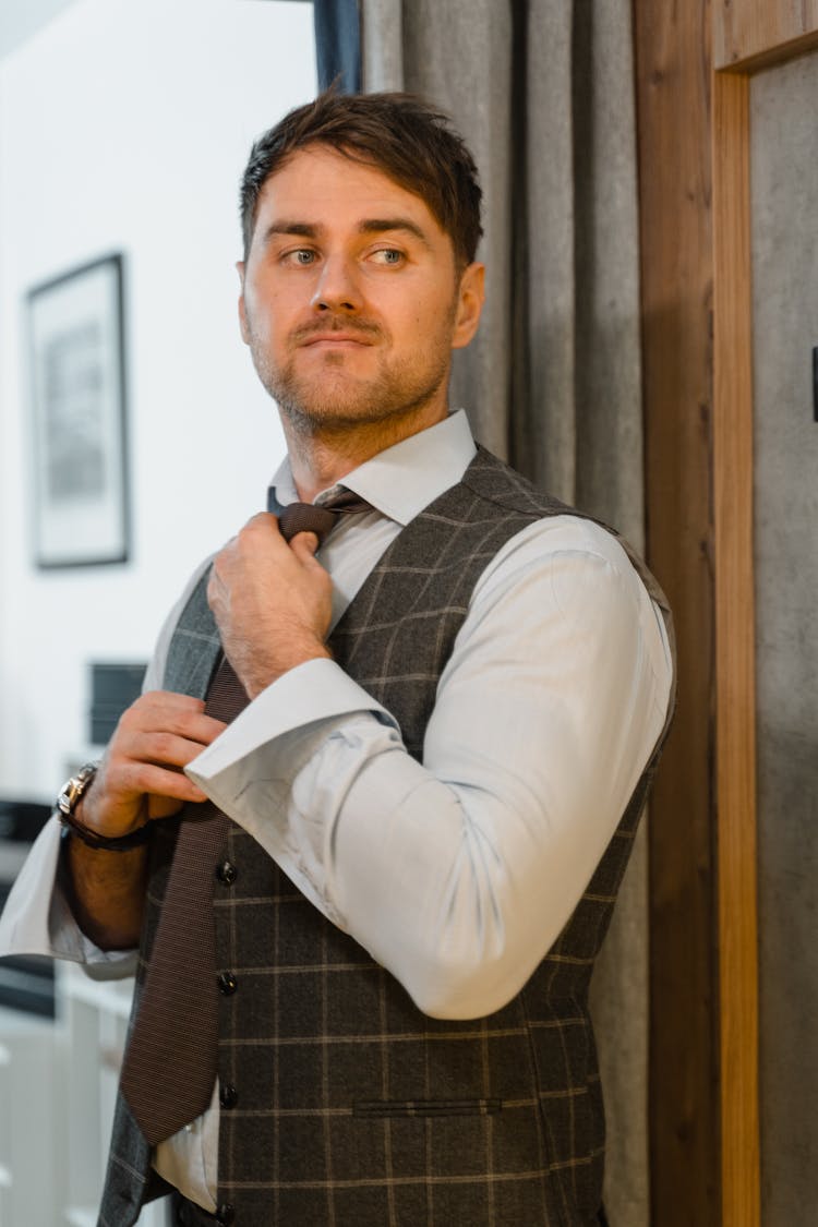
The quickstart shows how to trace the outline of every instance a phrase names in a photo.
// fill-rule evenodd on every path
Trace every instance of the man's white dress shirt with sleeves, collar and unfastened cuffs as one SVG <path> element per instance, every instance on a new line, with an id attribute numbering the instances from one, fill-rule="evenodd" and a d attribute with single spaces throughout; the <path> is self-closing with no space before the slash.
<path id="1" fill-rule="evenodd" d="M 343 479 L 374 510 L 340 520 L 318 555 L 334 625 L 473 454 L 460 411 Z M 273 486 L 281 506 L 297 497 L 286 461 Z M 146 688 L 161 686 L 180 605 Z M 661 615 L 621 545 L 558 515 L 514 536 L 478 579 L 422 763 L 390 713 L 320 659 L 259 694 L 188 774 L 422 1011 L 480 1017 L 522 988 L 570 917 L 663 728 L 671 681 Z M 0 920 L 0 953 L 130 971 L 132 955 L 83 937 L 59 885 L 49 899 L 56 860 L 49 823 Z M 156 1162 L 208 1209 L 211 1115 Z"/>

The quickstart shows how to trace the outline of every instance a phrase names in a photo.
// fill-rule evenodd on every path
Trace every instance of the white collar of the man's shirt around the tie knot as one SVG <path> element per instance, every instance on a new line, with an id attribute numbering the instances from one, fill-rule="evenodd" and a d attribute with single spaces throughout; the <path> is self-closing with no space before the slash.
<path id="1" fill-rule="evenodd" d="M 340 485 L 365 498 L 389 519 L 408 524 L 460 481 L 476 450 L 468 418 L 459 409 L 365 460 L 346 474 Z M 321 491 L 315 501 L 326 493 Z M 297 498 L 289 458 L 285 456 L 270 486 L 270 510 L 277 512 Z"/>

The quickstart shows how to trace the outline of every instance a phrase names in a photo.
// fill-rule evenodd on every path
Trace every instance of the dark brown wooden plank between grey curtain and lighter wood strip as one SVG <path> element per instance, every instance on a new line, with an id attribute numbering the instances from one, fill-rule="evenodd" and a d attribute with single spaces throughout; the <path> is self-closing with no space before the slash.
<path id="1" fill-rule="evenodd" d="M 677 626 L 676 723 L 650 811 L 651 1222 L 720 1222 L 710 10 L 635 0 L 648 556 Z"/>

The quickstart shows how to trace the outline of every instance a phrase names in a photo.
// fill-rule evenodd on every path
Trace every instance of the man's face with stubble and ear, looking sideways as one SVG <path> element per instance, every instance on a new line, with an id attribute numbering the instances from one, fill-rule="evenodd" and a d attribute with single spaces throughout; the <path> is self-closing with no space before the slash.
<path id="1" fill-rule="evenodd" d="M 405 418 L 411 433 L 445 416 L 483 269 L 459 275 L 419 196 L 326 146 L 302 150 L 265 183 L 239 272 L 242 335 L 293 425 Z"/>

